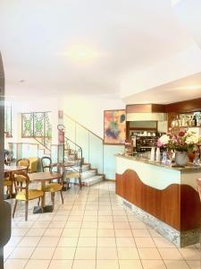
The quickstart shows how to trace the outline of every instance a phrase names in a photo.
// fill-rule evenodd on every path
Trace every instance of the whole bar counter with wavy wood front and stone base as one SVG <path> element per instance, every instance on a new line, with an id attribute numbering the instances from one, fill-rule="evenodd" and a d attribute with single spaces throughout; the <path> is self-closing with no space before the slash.
<path id="1" fill-rule="evenodd" d="M 116 195 L 123 206 L 177 247 L 199 242 L 200 167 L 167 167 L 122 155 L 116 162 Z"/>

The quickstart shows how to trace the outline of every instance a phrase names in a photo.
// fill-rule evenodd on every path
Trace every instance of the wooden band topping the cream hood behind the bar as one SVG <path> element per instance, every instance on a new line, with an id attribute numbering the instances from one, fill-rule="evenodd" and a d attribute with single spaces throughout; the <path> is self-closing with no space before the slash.
<path id="1" fill-rule="evenodd" d="M 126 113 L 150 113 L 164 112 L 164 105 L 157 104 L 134 104 L 126 106 Z"/>

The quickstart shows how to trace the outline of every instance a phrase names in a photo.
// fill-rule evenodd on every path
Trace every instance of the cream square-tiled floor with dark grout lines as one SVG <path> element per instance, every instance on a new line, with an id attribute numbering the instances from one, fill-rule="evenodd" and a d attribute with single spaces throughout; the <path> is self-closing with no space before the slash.
<path id="1" fill-rule="evenodd" d="M 47 194 L 48 195 L 48 194 Z M 71 187 L 54 213 L 17 208 L 5 269 L 200 269 L 199 245 L 177 248 L 117 203 L 114 184 Z"/>

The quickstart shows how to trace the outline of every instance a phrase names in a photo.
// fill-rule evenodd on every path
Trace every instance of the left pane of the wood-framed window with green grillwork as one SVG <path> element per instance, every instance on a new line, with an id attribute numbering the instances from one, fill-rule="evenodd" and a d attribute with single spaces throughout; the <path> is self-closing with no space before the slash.
<path id="1" fill-rule="evenodd" d="M 21 114 L 21 137 L 33 137 L 33 113 Z"/>

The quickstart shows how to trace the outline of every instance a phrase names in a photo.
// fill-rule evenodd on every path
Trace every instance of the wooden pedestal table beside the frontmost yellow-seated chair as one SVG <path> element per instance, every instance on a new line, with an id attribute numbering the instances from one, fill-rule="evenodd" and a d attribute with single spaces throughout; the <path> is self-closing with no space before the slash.
<path id="1" fill-rule="evenodd" d="M 41 197 L 41 206 L 34 207 L 34 213 L 51 213 L 53 212 L 53 205 L 46 205 L 46 181 L 49 182 L 53 179 L 62 178 L 62 174 L 57 172 L 39 172 L 29 174 L 29 179 L 32 182 L 40 182 L 41 190 L 44 191 L 43 197 Z"/>

